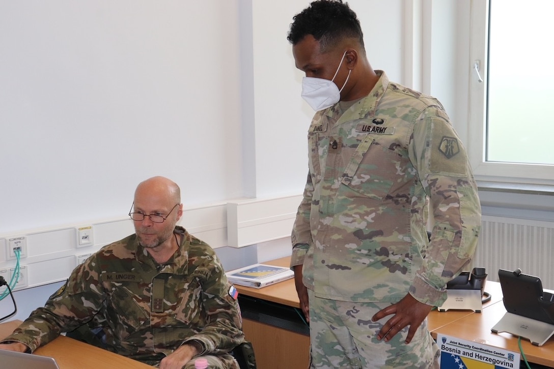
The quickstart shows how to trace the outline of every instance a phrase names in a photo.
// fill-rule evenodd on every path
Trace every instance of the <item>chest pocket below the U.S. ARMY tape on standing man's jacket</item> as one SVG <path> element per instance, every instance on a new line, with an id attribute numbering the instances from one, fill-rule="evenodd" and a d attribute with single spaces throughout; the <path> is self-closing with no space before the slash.
<path id="1" fill-rule="evenodd" d="M 343 195 L 350 198 L 361 194 L 383 200 L 399 174 L 402 159 L 399 154 L 379 144 L 372 134 L 361 137 L 355 148 L 343 150 L 346 166 L 341 178 L 341 184 L 345 186 L 342 191 L 354 191 Z"/>

